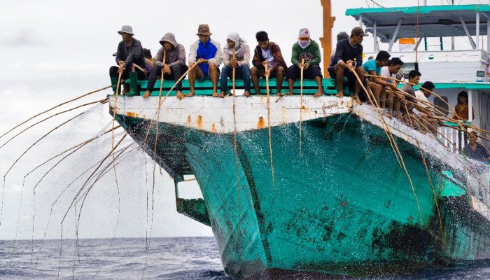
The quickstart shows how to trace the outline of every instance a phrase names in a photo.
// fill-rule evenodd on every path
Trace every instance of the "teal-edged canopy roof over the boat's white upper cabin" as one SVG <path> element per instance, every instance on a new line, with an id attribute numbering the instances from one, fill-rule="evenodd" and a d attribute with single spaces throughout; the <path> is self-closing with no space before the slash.
<path id="1" fill-rule="evenodd" d="M 417 10 L 419 10 L 418 17 Z M 461 18 L 470 35 L 474 36 L 476 34 L 477 13 L 480 15 L 479 34 L 486 34 L 487 21 L 490 20 L 490 5 L 351 8 L 345 12 L 346 15 L 350 15 L 356 20 L 361 19 L 363 25 L 367 27 L 367 31 L 371 33 L 374 22 L 376 22 L 377 36 L 384 43 L 393 38 L 400 20 L 400 29 L 396 37 L 416 37 L 417 18 L 419 20 L 419 36 L 467 36 Z"/>

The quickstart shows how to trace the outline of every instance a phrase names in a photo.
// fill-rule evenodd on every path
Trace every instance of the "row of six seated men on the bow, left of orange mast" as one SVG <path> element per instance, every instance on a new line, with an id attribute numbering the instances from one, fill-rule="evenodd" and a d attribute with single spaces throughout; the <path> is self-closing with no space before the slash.
<path id="1" fill-rule="evenodd" d="M 148 79 L 147 90 L 143 97 L 149 97 L 154 90 L 158 76 L 163 74 L 165 80 L 175 80 L 176 96 L 191 97 L 195 94 L 195 80 L 211 80 L 213 84 L 213 96 L 225 97 L 228 90 L 228 78 L 232 77 L 232 69 L 235 69 L 237 78 L 244 80 L 244 96 L 250 95 L 251 81 L 255 92 L 260 94 L 259 78 L 275 77 L 276 90 L 281 94 L 283 78 L 288 80 L 288 92 L 293 94 L 294 81 L 300 76 L 300 68 L 303 69 L 304 78 L 316 80 L 318 91 L 314 97 L 323 94 L 322 73 L 320 69 L 321 54 L 316 41 L 310 37 L 309 29 L 300 29 L 297 42 L 293 45 L 293 65 L 287 66 L 281 48 L 276 43 L 269 41 L 265 31 L 255 34 L 258 45 L 253 50 L 251 59 L 250 48 L 244 38 L 238 33 L 228 34 L 226 45 L 222 49 L 218 41 L 211 38 L 209 25 L 202 24 L 197 29 L 199 39 L 189 48 L 188 64 L 186 64 L 186 51 L 183 45 L 176 42 L 172 33 L 165 34 L 160 39 L 162 47 L 155 57 L 144 57 L 144 48 L 141 42 L 133 38 L 132 27 L 125 25 L 118 33 L 123 37 L 116 52 L 116 63 L 109 74 L 111 79 L 127 79 L 130 71 L 136 71 L 139 80 Z M 165 61 L 164 61 L 165 59 Z M 252 60 L 253 67 L 249 64 Z M 220 71 L 219 66 L 224 64 Z M 181 76 L 188 72 L 190 92 L 183 94 Z M 148 74 L 149 73 L 149 74 Z M 218 78 L 221 76 L 221 92 L 218 93 Z M 123 94 L 130 91 L 129 85 L 123 83 Z"/>

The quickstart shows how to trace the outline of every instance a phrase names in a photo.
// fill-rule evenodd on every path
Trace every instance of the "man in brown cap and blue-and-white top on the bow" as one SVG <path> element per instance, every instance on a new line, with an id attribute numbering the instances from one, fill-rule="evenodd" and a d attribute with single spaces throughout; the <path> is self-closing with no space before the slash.
<path id="1" fill-rule="evenodd" d="M 223 52 L 218 41 L 211 39 L 212 33 L 209 31 L 209 25 L 199 25 L 197 29 L 199 40 L 190 45 L 189 49 L 189 68 L 197 63 L 189 71 L 189 87 L 190 92 L 186 96 L 191 97 L 195 94 L 195 80 L 204 80 L 211 78 L 213 83 L 213 96 L 218 97 L 218 77 L 219 65 L 223 62 Z M 224 97 L 221 92 L 219 97 Z"/>

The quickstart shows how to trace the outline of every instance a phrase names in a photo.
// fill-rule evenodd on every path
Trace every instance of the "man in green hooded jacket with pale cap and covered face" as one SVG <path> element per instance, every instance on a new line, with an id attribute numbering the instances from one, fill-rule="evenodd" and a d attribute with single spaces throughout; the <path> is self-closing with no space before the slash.
<path id="1" fill-rule="evenodd" d="M 302 64 L 302 60 L 304 60 L 304 64 Z M 294 81 L 300 77 L 300 69 L 303 68 L 304 78 L 314 79 L 318 85 L 318 91 L 313 97 L 321 97 L 323 87 L 321 86 L 320 47 L 318 47 L 318 43 L 311 40 L 307 28 L 300 29 L 297 42 L 294 43 L 291 52 L 291 62 L 293 65 L 289 66 L 288 73 L 286 73 L 289 85 L 289 92 L 286 94 L 293 94 Z"/>

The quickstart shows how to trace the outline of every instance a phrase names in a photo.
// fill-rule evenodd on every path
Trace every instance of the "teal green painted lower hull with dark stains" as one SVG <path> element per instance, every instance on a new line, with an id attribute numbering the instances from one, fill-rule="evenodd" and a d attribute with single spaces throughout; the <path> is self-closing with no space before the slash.
<path id="1" fill-rule="evenodd" d="M 119 121 L 141 144 L 146 125 Z M 195 174 L 232 276 L 389 274 L 490 258 L 489 223 L 442 176 L 451 170 L 427 156 L 433 192 L 419 150 L 397 139 L 412 190 L 384 132 L 354 117 L 302 123 L 301 157 L 299 125 L 273 127 L 274 178 L 267 129 L 237 134 L 238 162 L 233 134 L 159 131 L 159 164 L 176 181 Z"/>

